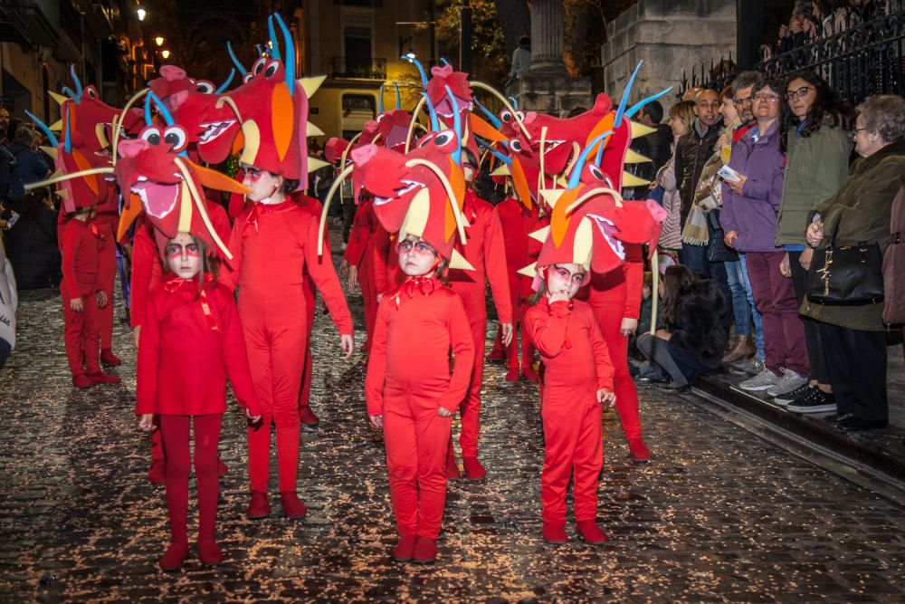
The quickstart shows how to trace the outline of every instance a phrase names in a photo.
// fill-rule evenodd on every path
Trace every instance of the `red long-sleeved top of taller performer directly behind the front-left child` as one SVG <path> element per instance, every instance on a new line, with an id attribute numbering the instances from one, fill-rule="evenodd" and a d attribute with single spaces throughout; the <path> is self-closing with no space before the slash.
<path id="1" fill-rule="evenodd" d="M 254 204 L 244 210 L 230 236 L 232 271 L 221 273 L 231 291 L 240 288 L 241 312 L 282 314 L 305 303 L 307 269 L 339 333 L 351 334 L 352 317 L 329 254 L 318 256 L 318 221 L 293 201 Z"/>

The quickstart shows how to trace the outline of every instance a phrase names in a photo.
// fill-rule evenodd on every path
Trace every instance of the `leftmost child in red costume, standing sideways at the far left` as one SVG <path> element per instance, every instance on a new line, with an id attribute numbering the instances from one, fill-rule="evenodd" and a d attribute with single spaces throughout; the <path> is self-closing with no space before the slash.
<path id="1" fill-rule="evenodd" d="M 66 357 L 72 384 L 90 388 L 119 383 L 119 377 L 100 370 L 100 307 L 110 302 L 100 283 L 100 237 L 92 218 L 96 206 L 78 208 L 62 226 L 62 297 Z"/>

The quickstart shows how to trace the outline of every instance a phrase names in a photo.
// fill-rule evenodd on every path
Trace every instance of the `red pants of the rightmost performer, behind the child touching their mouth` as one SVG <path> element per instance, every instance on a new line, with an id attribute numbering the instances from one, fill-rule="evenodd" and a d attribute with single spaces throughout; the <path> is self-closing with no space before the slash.
<path id="1" fill-rule="evenodd" d="M 622 326 L 625 303 L 591 306 L 594 318 L 604 336 L 606 348 L 613 362 L 613 391 L 616 395 L 616 411 L 622 424 L 625 438 L 641 438 L 641 417 L 638 415 L 638 390 L 634 388 L 628 372 L 628 338 L 619 328 Z"/>

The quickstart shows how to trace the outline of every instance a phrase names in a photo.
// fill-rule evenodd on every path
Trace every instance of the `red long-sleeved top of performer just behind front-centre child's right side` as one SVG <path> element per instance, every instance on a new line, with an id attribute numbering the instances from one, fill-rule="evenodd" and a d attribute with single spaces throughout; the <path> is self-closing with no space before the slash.
<path id="1" fill-rule="evenodd" d="M 449 280 L 452 290 L 462 296 L 462 302 L 470 315 L 486 313 L 486 279 L 491 283 L 493 303 L 501 323 L 512 322 L 509 270 L 506 264 L 506 246 L 500 217 L 493 206 L 477 197 L 471 190 L 465 192 L 462 214 L 469 225 L 465 230 L 467 244 L 459 246 L 459 253 L 474 267 L 473 271 L 452 269 Z M 519 270 L 515 267 L 512 270 Z"/>

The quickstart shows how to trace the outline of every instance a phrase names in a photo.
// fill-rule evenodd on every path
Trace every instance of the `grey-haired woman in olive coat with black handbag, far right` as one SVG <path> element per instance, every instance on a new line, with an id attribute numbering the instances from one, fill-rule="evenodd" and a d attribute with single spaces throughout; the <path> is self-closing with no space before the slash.
<path id="1" fill-rule="evenodd" d="M 870 248 L 883 251 L 890 240 L 892 201 L 905 174 L 905 99 L 898 95 L 872 97 L 858 106 L 853 129 L 854 150 L 860 159 L 849 170 L 839 191 L 816 206 L 807 226 L 807 244 L 814 248 L 808 273 L 808 297 L 801 311 L 818 323 L 824 358 L 836 398 L 837 412 L 826 419 L 846 432 L 887 427 L 886 327 L 884 304 L 862 296 L 824 297 L 814 302 L 812 284 L 839 292 L 843 278 L 839 264 L 825 260 L 837 251 Z M 832 239 L 832 241 L 831 241 Z M 833 254 L 829 254 L 831 248 Z M 847 263 L 846 263 L 847 264 Z M 862 264 L 862 282 L 874 282 L 881 266 Z M 855 286 L 861 283 L 854 283 Z"/>

